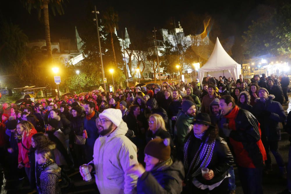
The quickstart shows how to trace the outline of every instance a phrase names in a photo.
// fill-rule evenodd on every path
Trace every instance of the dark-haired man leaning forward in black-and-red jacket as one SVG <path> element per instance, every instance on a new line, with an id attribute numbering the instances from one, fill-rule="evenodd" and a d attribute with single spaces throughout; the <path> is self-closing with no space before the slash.
<path id="1" fill-rule="evenodd" d="M 228 129 L 223 129 L 223 133 L 233 146 L 244 193 L 263 193 L 262 170 L 267 155 L 261 141 L 260 124 L 249 111 L 239 109 L 231 96 L 219 99 L 219 109 L 229 120 Z"/>

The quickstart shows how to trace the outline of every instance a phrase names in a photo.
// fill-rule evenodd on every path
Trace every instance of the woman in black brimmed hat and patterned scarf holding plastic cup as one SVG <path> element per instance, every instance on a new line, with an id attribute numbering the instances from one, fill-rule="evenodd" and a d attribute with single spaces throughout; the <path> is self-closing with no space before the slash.
<path id="1" fill-rule="evenodd" d="M 234 160 L 226 141 L 207 113 L 199 113 L 193 124 L 184 145 L 185 193 L 228 193 Z"/>

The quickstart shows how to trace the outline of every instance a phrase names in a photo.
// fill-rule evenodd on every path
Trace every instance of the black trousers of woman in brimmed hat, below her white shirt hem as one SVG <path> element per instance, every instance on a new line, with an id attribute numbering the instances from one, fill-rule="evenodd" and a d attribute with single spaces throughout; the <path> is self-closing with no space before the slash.
<path id="1" fill-rule="evenodd" d="M 185 192 L 184 192 L 185 190 Z M 200 189 L 197 188 L 192 182 L 189 181 L 189 184 L 187 186 L 185 186 L 185 188 L 183 189 L 183 194 L 186 193 L 195 193 L 195 194 L 206 194 L 206 193 L 210 193 L 210 194 L 226 194 L 228 193 L 228 178 L 223 179 L 223 181 L 221 182 L 221 184 L 217 187 L 215 187 L 214 189 L 212 189 L 211 191 L 209 191 L 209 189 Z"/>

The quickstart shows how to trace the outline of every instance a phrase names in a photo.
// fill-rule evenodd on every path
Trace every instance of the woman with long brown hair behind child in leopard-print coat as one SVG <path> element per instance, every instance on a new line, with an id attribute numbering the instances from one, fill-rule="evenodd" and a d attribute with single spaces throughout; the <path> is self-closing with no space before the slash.
<path id="1" fill-rule="evenodd" d="M 28 158 L 30 168 L 30 186 L 36 188 L 36 169 L 38 163 L 36 163 L 36 156 L 41 150 L 53 150 L 56 148 L 56 144 L 49 140 L 43 133 L 34 134 L 31 137 L 31 148 L 29 149 Z"/>

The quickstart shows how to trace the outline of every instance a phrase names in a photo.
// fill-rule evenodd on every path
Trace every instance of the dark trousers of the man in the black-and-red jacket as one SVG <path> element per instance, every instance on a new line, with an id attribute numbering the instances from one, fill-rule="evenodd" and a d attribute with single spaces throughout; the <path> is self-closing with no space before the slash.
<path id="1" fill-rule="evenodd" d="M 244 168 L 237 166 L 239 180 L 242 184 L 244 194 L 262 194 L 262 167 Z"/>

